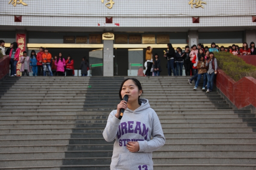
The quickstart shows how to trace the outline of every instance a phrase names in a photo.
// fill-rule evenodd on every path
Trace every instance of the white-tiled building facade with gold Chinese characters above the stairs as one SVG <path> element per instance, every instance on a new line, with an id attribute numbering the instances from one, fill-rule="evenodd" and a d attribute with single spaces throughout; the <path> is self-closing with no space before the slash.
<path id="1" fill-rule="evenodd" d="M 157 43 L 158 35 L 168 36 L 169 42 L 181 48 L 199 42 L 240 45 L 256 41 L 256 0 L 2 0 L 0 6 L 0 39 L 6 46 L 16 41 L 17 34 L 25 34 L 26 50 L 44 46 L 52 53 L 71 53 L 79 60 L 77 69 L 81 57 L 101 58 L 105 76 L 129 75 L 131 49 L 150 45 L 162 54 L 166 43 Z M 126 35 L 127 42 L 90 41 L 92 34 L 106 32 Z M 141 36 L 141 42 L 130 43 L 134 34 Z M 155 42 L 148 45 L 145 35 L 154 35 Z M 64 43 L 64 36 L 74 41 Z M 87 41 L 77 43 L 79 37 Z"/>

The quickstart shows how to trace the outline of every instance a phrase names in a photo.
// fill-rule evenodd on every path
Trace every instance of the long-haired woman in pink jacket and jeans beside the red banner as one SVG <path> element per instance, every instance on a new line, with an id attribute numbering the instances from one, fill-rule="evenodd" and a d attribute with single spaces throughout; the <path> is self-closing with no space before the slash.
<path id="1" fill-rule="evenodd" d="M 13 42 L 13 47 L 10 51 L 10 65 L 11 65 L 11 76 L 17 76 L 16 74 L 16 66 L 17 62 L 19 61 L 20 56 L 20 48 L 18 48 L 17 42 Z"/>

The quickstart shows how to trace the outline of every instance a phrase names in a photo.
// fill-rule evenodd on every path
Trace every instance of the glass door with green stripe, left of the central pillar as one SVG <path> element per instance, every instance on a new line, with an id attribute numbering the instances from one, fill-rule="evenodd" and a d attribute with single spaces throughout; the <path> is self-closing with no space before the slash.
<path id="1" fill-rule="evenodd" d="M 89 51 L 92 76 L 103 76 L 103 48 Z"/>

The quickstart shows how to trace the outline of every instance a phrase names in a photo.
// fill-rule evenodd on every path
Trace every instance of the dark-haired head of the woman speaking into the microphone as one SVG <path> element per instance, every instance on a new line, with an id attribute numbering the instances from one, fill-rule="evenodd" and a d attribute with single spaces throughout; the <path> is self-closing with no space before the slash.
<path id="1" fill-rule="evenodd" d="M 138 101 L 138 98 L 140 94 L 142 94 L 142 91 L 139 91 L 139 88 L 137 87 L 137 85 L 135 85 L 133 80 L 128 79 L 122 86 L 122 98 L 125 96 L 125 94 L 129 96 L 128 103 L 133 103 L 135 101 Z"/>

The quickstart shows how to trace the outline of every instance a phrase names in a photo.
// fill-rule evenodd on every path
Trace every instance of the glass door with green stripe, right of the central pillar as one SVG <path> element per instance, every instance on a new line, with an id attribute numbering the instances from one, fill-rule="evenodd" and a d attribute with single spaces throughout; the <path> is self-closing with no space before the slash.
<path id="1" fill-rule="evenodd" d="M 128 49 L 128 76 L 143 76 L 143 49 Z"/>

